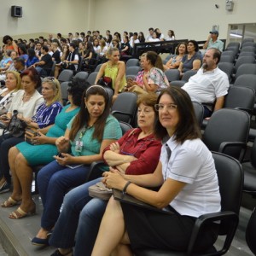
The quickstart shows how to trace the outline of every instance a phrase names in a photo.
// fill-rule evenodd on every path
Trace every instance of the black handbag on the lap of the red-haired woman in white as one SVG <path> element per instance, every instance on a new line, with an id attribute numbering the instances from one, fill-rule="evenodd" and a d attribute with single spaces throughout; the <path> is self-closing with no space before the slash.
<path id="1" fill-rule="evenodd" d="M 18 111 L 14 110 L 12 118 L 9 121 L 9 125 L 3 130 L 4 133 L 9 131 L 9 134 L 13 137 L 22 137 L 25 134 L 26 122 L 18 118 Z"/>

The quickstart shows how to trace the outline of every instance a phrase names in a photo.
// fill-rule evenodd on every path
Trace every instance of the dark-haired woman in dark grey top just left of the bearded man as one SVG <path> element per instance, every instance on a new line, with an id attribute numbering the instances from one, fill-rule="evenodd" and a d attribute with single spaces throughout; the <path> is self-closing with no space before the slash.
<path id="1" fill-rule="evenodd" d="M 188 70 L 198 70 L 201 67 L 201 52 L 199 52 L 198 44 L 195 40 L 189 40 L 187 43 L 188 54 L 183 55 L 183 59 L 179 64 L 178 70 L 183 76 Z"/>

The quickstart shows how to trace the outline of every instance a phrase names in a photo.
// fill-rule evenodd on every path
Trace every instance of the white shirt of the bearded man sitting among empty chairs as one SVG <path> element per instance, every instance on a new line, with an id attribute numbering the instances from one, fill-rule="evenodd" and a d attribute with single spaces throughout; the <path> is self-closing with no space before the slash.
<path id="1" fill-rule="evenodd" d="M 216 67 L 205 73 L 199 69 L 182 88 L 188 92 L 191 101 L 213 103 L 216 98 L 227 95 L 229 87 L 227 74 Z"/>

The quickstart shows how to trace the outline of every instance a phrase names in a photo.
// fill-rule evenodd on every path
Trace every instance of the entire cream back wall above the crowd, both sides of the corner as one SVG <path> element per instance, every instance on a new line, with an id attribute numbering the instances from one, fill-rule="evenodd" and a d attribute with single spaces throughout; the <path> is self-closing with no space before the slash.
<path id="1" fill-rule="evenodd" d="M 1 0 L 0 37 L 49 32 L 66 35 L 88 29 L 100 30 L 103 35 L 106 29 L 148 33 L 153 26 L 164 34 L 172 29 L 180 39 L 204 40 L 212 25 L 219 25 L 219 38 L 226 38 L 228 24 L 256 22 L 256 1 L 234 3 L 234 10 L 228 12 L 225 0 Z M 11 17 L 11 5 L 23 7 L 22 18 Z"/>

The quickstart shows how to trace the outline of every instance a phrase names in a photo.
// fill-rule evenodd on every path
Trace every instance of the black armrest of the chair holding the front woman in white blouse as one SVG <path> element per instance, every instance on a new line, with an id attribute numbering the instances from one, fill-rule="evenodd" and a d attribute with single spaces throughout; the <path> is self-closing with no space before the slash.
<path id="1" fill-rule="evenodd" d="M 225 252 L 228 251 L 228 249 L 230 248 L 230 244 L 233 240 L 233 237 L 235 236 L 236 233 L 236 228 L 239 222 L 239 218 L 238 215 L 235 212 L 214 212 L 214 213 L 207 213 L 207 214 L 203 214 L 201 215 L 199 218 L 196 219 L 195 221 L 195 226 L 192 230 L 192 234 L 190 236 L 190 241 L 189 241 L 189 247 L 188 247 L 188 255 L 191 255 L 193 252 L 193 248 L 195 246 L 195 242 L 198 238 L 199 232 L 201 230 L 201 228 L 203 227 L 204 224 L 208 224 L 208 223 L 216 223 L 220 221 L 220 228 L 221 228 L 221 222 L 225 221 L 225 223 L 229 223 L 229 228 L 225 229 L 224 234 L 219 232 L 219 235 L 226 235 L 225 241 L 224 241 L 224 245 L 223 247 L 220 249 L 220 251 L 218 252 L 223 252 L 222 254 L 224 254 Z M 216 223 L 217 224 L 217 223 Z M 220 229 L 221 231 L 221 229 Z M 213 253 L 214 254 L 214 253 Z M 220 254 L 220 255 L 222 255 Z M 206 255 L 212 255 L 211 253 L 208 254 L 204 254 Z"/>

